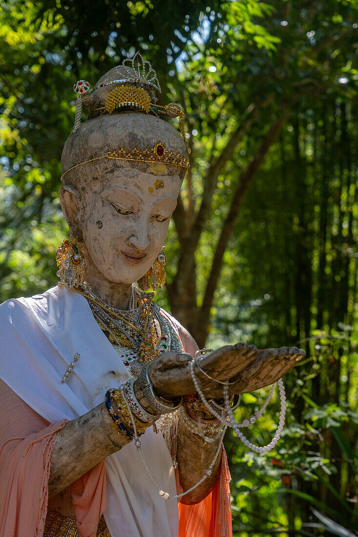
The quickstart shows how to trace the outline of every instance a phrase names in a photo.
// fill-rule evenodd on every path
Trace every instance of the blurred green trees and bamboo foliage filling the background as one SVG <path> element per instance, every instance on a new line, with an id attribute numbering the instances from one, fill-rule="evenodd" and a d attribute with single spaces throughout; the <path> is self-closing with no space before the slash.
<path id="1" fill-rule="evenodd" d="M 93 85 L 139 49 L 163 101 L 181 102 L 188 118 L 192 168 L 167 243 L 169 283 L 180 278 L 182 256 L 193 283 L 179 290 L 191 301 L 183 324 L 193 311 L 196 335 L 208 331 L 210 346 L 246 340 L 307 353 L 285 378 L 288 423 L 276 451 L 252 457 L 227 433 L 234 534 L 322 535 L 329 523 L 311 506 L 357 532 L 357 3 L 0 6 L 1 299 L 57 281 L 54 252 L 67 235 L 60 155 L 73 126 L 74 82 Z M 283 116 L 219 259 L 235 192 Z M 193 261 L 187 243 L 218 163 Z M 218 259 L 208 328 L 202 307 Z M 162 289 L 159 302 L 175 301 Z M 245 394 L 238 419 L 265 393 Z M 265 416 L 249 431 L 261 445 L 274 434 L 278 401 Z"/>

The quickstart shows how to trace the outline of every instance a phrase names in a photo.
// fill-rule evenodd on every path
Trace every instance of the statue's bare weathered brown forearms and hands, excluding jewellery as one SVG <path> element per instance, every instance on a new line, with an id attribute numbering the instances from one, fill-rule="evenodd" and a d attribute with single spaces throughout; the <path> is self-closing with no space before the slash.
<path id="1" fill-rule="evenodd" d="M 304 354 L 303 350 L 296 347 L 260 351 L 253 345 L 238 343 L 234 346 L 221 347 L 203 357 L 201 365 L 208 374 L 219 380 L 233 378 L 238 374 L 237 383 L 231 385 L 231 390 L 232 393 L 243 393 L 275 382 L 290 371 Z M 149 376 L 155 392 L 164 397 L 194 393 L 195 387 L 187 367 L 190 360 L 190 355 L 175 352 L 161 354 L 153 360 Z M 220 384 L 207 381 L 199 371 L 196 371 L 196 375 L 207 396 L 222 397 L 223 389 Z M 144 407 L 147 404 L 139 392 L 138 401 Z M 128 426 L 130 427 L 130 424 Z M 117 432 L 117 427 L 104 403 L 69 422 L 56 434 L 54 441 L 49 494 L 54 495 L 67 488 L 69 484 L 96 466 L 106 456 L 118 451 L 128 441 L 124 434 Z M 214 447 L 214 444 L 206 444 L 200 437 L 191 438 L 187 431 L 183 431 L 180 427 L 177 458 L 180 463 L 180 480 L 184 490 L 192 487 L 203 476 L 204 469 L 209 466 L 217 447 L 218 445 Z M 196 503 L 209 494 L 216 481 L 219 467 L 220 458 L 213 467 L 210 478 L 185 496 L 183 502 Z M 189 484 L 190 487 L 188 487 Z"/>

